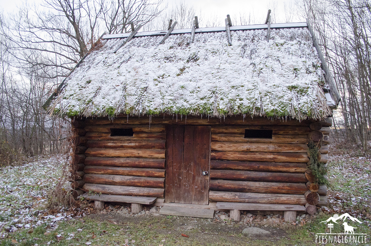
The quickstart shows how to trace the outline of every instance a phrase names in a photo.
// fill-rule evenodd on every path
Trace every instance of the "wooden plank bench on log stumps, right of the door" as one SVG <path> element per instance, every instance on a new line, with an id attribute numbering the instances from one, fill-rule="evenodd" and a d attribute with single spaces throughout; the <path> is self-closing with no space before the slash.
<path id="1" fill-rule="evenodd" d="M 301 205 L 286 205 L 286 204 L 260 204 L 260 203 L 228 203 L 218 201 L 217 209 L 229 209 L 230 218 L 235 221 L 240 221 L 240 210 L 270 210 L 283 211 L 283 217 L 286 222 L 296 220 L 296 211 L 306 211 Z"/>

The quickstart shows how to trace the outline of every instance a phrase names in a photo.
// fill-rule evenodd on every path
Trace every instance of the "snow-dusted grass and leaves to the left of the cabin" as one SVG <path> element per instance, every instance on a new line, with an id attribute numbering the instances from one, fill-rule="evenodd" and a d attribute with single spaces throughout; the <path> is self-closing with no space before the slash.
<path id="1" fill-rule="evenodd" d="M 47 193 L 56 187 L 66 155 L 37 156 L 19 166 L 0 168 L 0 239 L 7 232 L 50 225 L 71 217 L 61 210 L 48 214 Z"/>

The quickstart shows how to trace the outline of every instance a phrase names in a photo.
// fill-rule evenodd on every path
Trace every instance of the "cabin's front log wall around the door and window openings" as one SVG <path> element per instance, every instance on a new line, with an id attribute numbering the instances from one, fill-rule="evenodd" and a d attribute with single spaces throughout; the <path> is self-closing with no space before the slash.
<path id="1" fill-rule="evenodd" d="M 311 191 L 316 184 L 311 184 L 307 167 L 307 143 L 311 136 L 322 136 L 320 158 L 326 163 L 331 123 L 331 119 L 299 122 L 264 117 L 74 120 L 75 169 L 71 171 L 79 178 L 71 178 L 71 185 L 75 193 L 81 189 L 164 197 L 165 125 L 211 125 L 210 201 L 304 205 L 306 197 L 316 197 L 304 196 L 307 191 L 326 196 L 324 186 Z M 133 136 L 111 136 L 111 128 L 133 128 Z M 272 138 L 244 138 L 245 129 L 272 129 Z"/>

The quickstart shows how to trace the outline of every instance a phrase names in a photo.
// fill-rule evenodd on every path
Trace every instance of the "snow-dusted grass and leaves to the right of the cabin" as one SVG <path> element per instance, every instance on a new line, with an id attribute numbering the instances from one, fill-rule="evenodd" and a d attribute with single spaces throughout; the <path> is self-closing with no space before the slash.
<path id="1" fill-rule="evenodd" d="M 327 211 L 371 221 L 371 154 L 330 148 Z"/>

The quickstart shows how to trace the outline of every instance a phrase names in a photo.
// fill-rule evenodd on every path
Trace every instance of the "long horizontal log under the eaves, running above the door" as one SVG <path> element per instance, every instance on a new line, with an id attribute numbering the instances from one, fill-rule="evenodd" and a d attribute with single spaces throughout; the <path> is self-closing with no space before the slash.
<path id="1" fill-rule="evenodd" d="M 114 125 L 114 124 L 149 124 L 149 117 L 117 117 L 114 119 L 109 119 L 108 117 L 100 118 L 86 118 L 86 125 Z M 155 124 L 171 124 L 171 125 L 301 125 L 308 126 L 311 124 L 311 121 L 308 119 L 298 121 L 296 119 L 268 119 L 266 117 L 243 117 L 239 116 L 227 116 L 223 118 L 219 117 L 192 117 L 192 116 L 183 116 L 178 117 L 154 117 L 151 116 L 151 125 Z"/>

